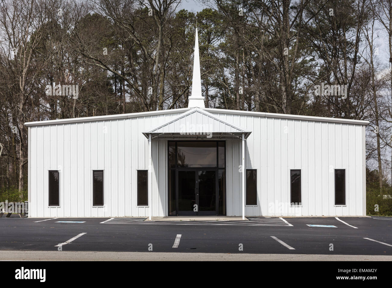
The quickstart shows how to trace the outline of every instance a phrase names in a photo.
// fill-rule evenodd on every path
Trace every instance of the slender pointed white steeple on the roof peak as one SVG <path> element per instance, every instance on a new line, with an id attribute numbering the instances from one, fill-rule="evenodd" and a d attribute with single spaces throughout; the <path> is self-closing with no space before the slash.
<path id="1" fill-rule="evenodd" d="M 200 78 L 200 59 L 199 59 L 199 38 L 195 36 L 195 51 L 193 57 L 193 78 L 192 78 L 192 93 L 188 98 L 188 108 L 204 108 L 204 97 L 201 95 L 201 78 Z"/>

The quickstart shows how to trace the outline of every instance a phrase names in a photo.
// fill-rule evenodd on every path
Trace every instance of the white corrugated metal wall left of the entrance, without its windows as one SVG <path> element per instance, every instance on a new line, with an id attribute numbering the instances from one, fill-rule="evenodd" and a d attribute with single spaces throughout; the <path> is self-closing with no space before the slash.
<path id="1" fill-rule="evenodd" d="M 29 216 L 148 216 L 148 207 L 137 206 L 137 170 L 149 168 L 142 132 L 178 114 L 29 127 Z M 167 214 L 167 141 L 153 141 L 152 150 L 152 214 L 162 216 Z M 48 206 L 48 170 L 60 170 L 60 207 Z M 92 206 L 93 170 L 104 170 L 103 207 Z"/>

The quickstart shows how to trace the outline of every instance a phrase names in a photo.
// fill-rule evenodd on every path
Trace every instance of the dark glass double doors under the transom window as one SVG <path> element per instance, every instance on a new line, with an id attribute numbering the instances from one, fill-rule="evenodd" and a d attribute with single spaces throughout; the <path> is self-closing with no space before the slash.
<path id="1" fill-rule="evenodd" d="M 177 179 L 179 216 L 218 215 L 216 169 L 178 169 Z"/>

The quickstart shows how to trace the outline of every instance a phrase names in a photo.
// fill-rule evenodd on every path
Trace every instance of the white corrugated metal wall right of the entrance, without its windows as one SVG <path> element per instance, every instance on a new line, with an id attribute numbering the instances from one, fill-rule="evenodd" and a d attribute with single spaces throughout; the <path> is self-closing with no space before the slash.
<path id="1" fill-rule="evenodd" d="M 252 131 L 245 165 L 257 169 L 247 216 L 354 216 L 365 212 L 365 126 L 212 113 Z M 227 215 L 241 215 L 241 143 L 227 145 Z M 301 169 L 302 206 L 290 206 L 290 169 Z M 346 205 L 335 206 L 334 169 L 346 169 Z"/>

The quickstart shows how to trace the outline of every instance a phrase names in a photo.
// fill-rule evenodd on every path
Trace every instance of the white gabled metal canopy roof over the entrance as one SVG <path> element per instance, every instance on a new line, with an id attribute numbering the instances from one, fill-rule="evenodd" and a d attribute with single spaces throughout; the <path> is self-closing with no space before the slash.
<path id="1" fill-rule="evenodd" d="M 250 133 L 198 107 L 143 132 L 146 138 L 151 134 L 152 139 L 239 139 L 242 134 L 246 139 Z"/>

